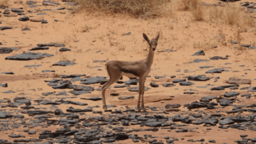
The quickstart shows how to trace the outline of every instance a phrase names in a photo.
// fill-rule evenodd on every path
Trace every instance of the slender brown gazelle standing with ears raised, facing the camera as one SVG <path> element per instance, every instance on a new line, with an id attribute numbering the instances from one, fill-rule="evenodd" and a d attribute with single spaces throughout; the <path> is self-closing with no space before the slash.
<path id="1" fill-rule="evenodd" d="M 160 33 L 156 36 L 156 38 L 151 41 L 148 39 L 146 34 L 143 33 L 144 39 L 150 45 L 150 49 L 148 51 L 148 56 L 144 60 L 136 61 L 136 62 L 122 62 L 112 60 L 107 62 L 105 68 L 110 76 L 110 80 L 102 86 L 102 107 L 104 111 L 107 110 L 106 107 L 106 99 L 105 92 L 108 86 L 111 86 L 114 82 L 116 82 L 122 75 L 127 77 L 139 77 L 139 100 L 138 100 L 138 111 L 140 111 L 140 96 L 141 97 L 141 106 L 143 111 L 146 111 L 144 107 L 144 82 L 146 76 L 150 73 L 151 65 L 154 60 L 154 52 L 156 50 L 156 46 L 158 45 L 158 39 L 160 37 Z"/>

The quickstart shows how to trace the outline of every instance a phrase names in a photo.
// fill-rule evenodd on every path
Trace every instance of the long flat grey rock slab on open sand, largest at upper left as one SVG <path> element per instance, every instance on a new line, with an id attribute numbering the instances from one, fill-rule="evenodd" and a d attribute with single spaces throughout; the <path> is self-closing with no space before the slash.
<path id="1" fill-rule="evenodd" d="M 45 58 L 53 56 L 52 54 L 41 54 L 41 53 L 33 53 L 33 52 L 25 52 L 22 54 L 18 54 L 16 56 L 8 56 L 5 60 L 36 60 L 39 58 Z"/>

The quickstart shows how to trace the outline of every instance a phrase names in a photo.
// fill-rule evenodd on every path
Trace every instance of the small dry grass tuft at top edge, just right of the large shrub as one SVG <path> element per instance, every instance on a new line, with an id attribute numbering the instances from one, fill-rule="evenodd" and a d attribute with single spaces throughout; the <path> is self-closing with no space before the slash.
<path id="1" fill-rule="evenodd" d="M 200 5 L 200 0 L 179 0 L 178 10 L 192 10 Z"/>

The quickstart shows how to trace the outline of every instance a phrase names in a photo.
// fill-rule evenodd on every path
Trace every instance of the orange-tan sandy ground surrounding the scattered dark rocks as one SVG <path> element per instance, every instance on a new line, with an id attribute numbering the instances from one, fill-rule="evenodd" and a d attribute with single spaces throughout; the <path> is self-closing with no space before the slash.
<path id="1" fill-rule="evenodd" d="M 160 31 L 160 39 L 158 41 L 157 50 L 177 50 L 176 52 L 155 52 L 154 63 L 152 65 L 152 71 L 150 76 L 146 78 L 145 86 L 149 88 L 144 94 L 144 101 L 146 106 L 157 107 L 158 111 L 148 110 L 149 115 L 156 115 L 162 113 L 160 109 L 164 110 L 166 104 L 177 104 L 179 103 L 181 111 L 169 112 L 169 116 L 182 114 L 188 115 L 190 113 L 196 113 L 198 109 L 192 109 L 189 111 L 186 107 L 183 107 L 186 103 L 192 103 L 193 101 L 199 101 L 203 96 L 221 96 L 225 92 L 240 92 L 240 95 L 247 94 L 247 90 L 240 90 L 245 86 L 255 86 L 255 50 L 245 48 L 244 50 L 237 50 L 237 45 L 232 45 L 230 40 L 236 41 L 235 26 L 228 26 L 226 24 L 218 24 L 209 22 L 209 16 L 207 10 L 205 11 L 205 20 L 202 22 L 194 22 L 191 20 L 190 12 L 174 10 L 173 14 L 163 18 L 156 18 L 152 20 L 139 20 L 131 18 L 129 16 L 114 15 L 114 16 L 94 16 L 89 15 L 85 12 L 78 12 L 71 14 L 69 10 L 53 10 L 45 11 L 46 15 L 37 16 L 35 9 L 56 9 L 55 6 L 42 6 L 41 0 L 37 3 L 37 8 L 29 8 L 26 5 L 26 1 L 23 3 L 14 3 L 9 1 L 9 8 L 23 7 L 26 16 L 30 18 L 43 18 L 47 20 L 48 24 L 41 24 L 41 22 L 20 22 L 18 18 L 22 16 L 6 17 L 1 16 L 0 20 L 3 24 L 0 26 L 12 26 L 12 29 L 0 31 L 0 42 L 3 43 L 2 47 L 17 47 L 18 50 L 14 50 L 10 54 L 0 54 L 0 73 L 6 71 L 12 71 L 14 75 L 0 75 L 0 83 L 8 83 L 7 88 L 0 87 L 0 92 L 12 90 L 15 93 L 11 94 L 0 94 L 0 99 L 8 98 L 13 99 L 20 94 L 27 98 L 32 99 L 51 99 L 52 101 L 66 97 L 66 100 L 80 101 L 88 103 L 89 106 L 99 105 L 100 107 L 94 108 L 94 111 L 102 111 L 102 101 L 89 101 L 80 98 L 90 98 L 93 96 L 101 97 L 100 91 L 93 91 L 91 94 L 82 94 L 71 98 L 69 96 L 42 96 L 43 92 L 69 92 L 70 89 L 53 89 L 47 85 L 45 80 L 51 80 L 53 78 L 58 79 L 58 75 L 73 75 L 73 74 L 85 74 L 86 77 L 108 77 L 106 70 L 104 69 L 105 62 L 94 63 L 94 60 L 121 60 L 121 61 L 137 61 L 146 58 L 148 54 L 148 44 L 144 41 L 142 33 L 146 33 L 150 39 L 156 37 L 157 32 Z M 61 5 L 64 3 L 59 1 Z M 205 1 L 206 2 L 206 1 Z M 218 3 L 219 1 L 207 1 L 207 3 Z M 234 5 L 239 5 L 240 2 L 236 2 Z M 253 2 L 253 1 L 251 1 Z M 70 6 L 66 6 L 70 7 Z M 206 9 L 208 9 L 207 7 Z M 209 8 L 210 9 L 210 8 Z M 31 10 L 32 13 L 27 11 Z M 1 10 L 3 13 L 4 10 Z M 11 12 L 12 13 L 12 12 Z M 255 13 L 252 14 L 256 16 Z M 59 20 L 59 22 L 54 22 Z M 28 27 L 31 31 L 21 31 L 22 28 Z M 86 28 L 88 27 L 88 29 Z M 85 31 L 87 30 L 87 31 Z M 121 36 L 125 33 L 131 32 L 131 35 Z M 241 33 L 242 44 L 250 44 L 255 46 L 255 27 L 248 28 L 246 32 Z M 224 43 L 226 46 L 221 44 L 221 37 L 224 35 Z M 54 56 L 49 58 L 43 58 L 41 60 L 29 60 L 29 61 L 16 61 L 16 60 L 5 60 L 7 56 L 15 56 L 22 52 L 29 52 L 28 49 L 35 47 L 39 43 L 64 43 L 66 48 L 70 48 L 71 51 L 59 52 L 58 47 L 51 46 L 49 50 L 37 50 L 35 52 L 53 54 Z M 203 48 L 203 46 L 196 46 L 201 43 L 207 46 L 217 46 L 217 48 Z M 192 56 L 198 50 L 204 50 L 205 56 Z M 100 50 L 100 52 L 97 52 Z M 97 53 L 96 53 L 97 52 Z M 211 60 L 209 62 L 190 63 L 196 59 L 209 60 L 213 56 L 225 57 L 228 55 L 228 60 Z M 72 66 L 53 66 L 53 63 L 61 60 L 74 61 L 75 65 Z M 225 65 L 225 63 L 231 63 Z M 25 65 L 42 65 L 39 67 L 24 67 Z M 200 66 L 213 66 L 208 69 L 200 69 Z M 244 67 L 240 67 L 244 65 Z M 98 67 L 99 66 L 99 67 Z M 96 68 L 95 68 L 96 67 Z M 205 71 L 213 68 L 226 67 L 228 71 L 223 73 L 205 74 Z M 98 70 L 100 69 L 100 70 Z M 244 71 L 244 69 L 251 69 L 251 71 Z M 54 73 L 42 73 L 43 70 L 53 70 Z M 232 72 L 239 71 L 239 72 Z M 176 78 L 171 79 L 171 75 L 176 75 Z M 192 86 L 176 86 L 165 88 L 162 83 L 171 83 L 175 79 L 181 79 L 188 75 L 206 75 L 208 77 L 220 77 L 217 82 L 210 81 L 192 81 L 195 85 Z M 155 76 L 165 76 L 162 79 L 155 79 Z M 250 79 L 251 84 L 241 84 L 237 90 L 226 90 L 211 91 L 210 88 L 226 85 L 225 80 L 229 77 L 238 77 L 243 79 Z M 122 81 L 128 81 L 129 78 L 123 77 Z M 158 88 L 150 86 L 150 82 L 156 82 L 159 84 Z M 79 84 L 79 81 L 72 82 L 72 84 Z M 198 88 L 197 86 L 206 86 L 207 84 L 213 84 L 213 86 L 207 86 L 207 88 Z M 113 84 L 114 86 L 116 84 Z M 98 88 L 100 84 L 91 84 Z M 132 85 L 133 86 L 133 85 Z M 137 85 L 138 86 L 138 85 Z M 195 94 L 188 95 L 183 94 L 184 91 L 189 91 L 192 88 L 196 90 Z M 34 90 L 32 90 L 34 89 Z M 110 92 L 116 91 L 119 96 L 110 96 Z M 255 103 L 255 92 L 250 92 L 251 99 L 241 98 L 238 96 L 239 103 L 236 105 L 245 105 Z M 134 99 L 120 100 L 120 96 L 135 96 Z M 174 96 L 173 98 L 170 96 Z M 106 101 L 108 105 L 117 105 L 115 108 L 110 108 L 113 111 L 115 109 L 125 109 L 127 105 L 131 109 L 137 106 L 138 93 L 129 92 L 127 88 L 110 88 L 106 91 Z M 216 101 L 216 99 L 213 99 Z M 6 105 L 6 103 L 1 103 Z M 33 102 L 32 102 L 33 105 Z M 46 107 L 49 109 L 49 105 L 33 105 L 34 107 Z M 84 109 L 87 106 L 79 106 L 72 104 L 57 105 L 62 111 L 66 111 L 68 107 L 74 107 L 77 109 Z M 204 109 L 200 108 L 203 113 L 216 113 L 221 111 L 224 116 L 235 116 L 235 114 L 227 114 L 225 111 L 232 110 L 232 107 L 217 109 Z M 16 113 L 20 111 L 20 107 L 11 108 L 5 107 L 0 108 L 0 111 L 8 111 L 9 113 Z M 242 113 L 241 115 L 248 115 L 249 113 Z M 27 120 L 32 117 L 24 114 Z M 100 114 L 93 114 L 91 112 L 81 117 L 87 118 L 92 116 L 98 116 Z M 103 116 L 110 115 L 110 113 L 103 112 Z M 20 120 L 16 120 L 20 122 Z M 1 125 L 1 124 L 0 124 Z M 255 137 L 255 132 L 251 130 L 237 130 L 229 128 L 227 130 L 220 129 L 217 126 L 211 126 L 211 130 L 206 130 L 208 127 L 202 125 L 188 124 L 189 129 L 195 130 L 196 132 L 177 133 L 175 130 L 159 130 L 158 132 L 132 132 L 130 134 L 138 134 L 140 136 L 144 134 L 152 134 L 159 141 L 163 141 L 164 136 L 177 137 L 184 140 L 175 141 L 175 143 L 190 143 L 187 139 L 215 139 L 216 143 L 234 143 L 236 140 L 241 140 L 241 134 L 247 134 L 248 137 Z M 61 126 L 49 126 L 49 128 L 43 128 L 45 130 L 56 130 Z M 127 129 L 138 128 L 138 126 L 127 126 Z M 198 129 L 196 129 L 198 128 Z M 8 137 L 10 134 L 24 134 L 26 138 L 38 138 L 39 132 L 35 135 L 28 135 L 23 132 L 24 128 L 18 128 L 13 130 L 7 130 L 0 132 L 2 135 L 0 139 L 7 139 L 13 141 L 13 138 Z M 42 128 L 36 127 L 31 130 L 41 131 Z M 22 138 L 20 138 L 22 139 Z M 117 143 L 133 143 L 131 139 L 125 141 L 119 141 Z M 140 141 L 139 143 L 142 143 Z M 201 143 L 201 142 L 196 142 Z"/>

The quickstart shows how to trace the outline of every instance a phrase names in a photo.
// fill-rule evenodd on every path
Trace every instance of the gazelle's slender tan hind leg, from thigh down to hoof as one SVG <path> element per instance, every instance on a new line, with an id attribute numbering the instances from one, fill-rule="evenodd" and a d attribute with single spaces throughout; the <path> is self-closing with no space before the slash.
<path id="1" fill-rule="evenodd" d="M 117 71 L 116 73 L 108 73 L 108 74 L 110 75 L 110 80 L 106 82 L 101 88 L 102 89 L 102 108 L 104 109 L 104 111 L 107 110 L 106 99 L 105 99 L 106 89 L 108 88 L 108 86 L 111 86 L 112 84 L 114 84 L 114 82 L 116 82 L 121 77 L 121 72 L 117 72 Z"/>

